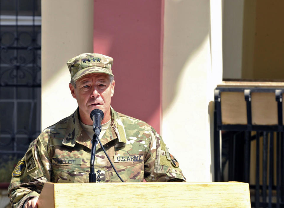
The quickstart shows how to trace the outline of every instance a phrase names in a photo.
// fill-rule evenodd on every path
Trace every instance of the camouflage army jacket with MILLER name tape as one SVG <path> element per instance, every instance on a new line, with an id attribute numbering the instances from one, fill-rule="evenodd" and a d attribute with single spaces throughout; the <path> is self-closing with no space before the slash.
<path id="1" fill-rule="evenodd" d="M 71 116 L 45 129 L 29 146 L 12 173 L 8 195 L 13 207 L 39 196 L 46 182 L 88 182 L 91 138 Z M 147 123 L 115 112 L 101 143 L 125 182 L 184 181 L 178 162 Z M 100 144 L 96 147 L 97 182 L 120 182 Z"/>

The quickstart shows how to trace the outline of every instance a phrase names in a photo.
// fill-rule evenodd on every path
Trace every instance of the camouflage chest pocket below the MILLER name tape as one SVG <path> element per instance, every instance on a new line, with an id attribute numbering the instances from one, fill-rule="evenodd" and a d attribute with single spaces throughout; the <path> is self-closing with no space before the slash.
<path id="1" fill-rule="evenodd" d="M 80 170 L 80 165 L 53 166 L 51 181 L 54 183 L 85 183 L 88 182 L 87 174 Z"/>

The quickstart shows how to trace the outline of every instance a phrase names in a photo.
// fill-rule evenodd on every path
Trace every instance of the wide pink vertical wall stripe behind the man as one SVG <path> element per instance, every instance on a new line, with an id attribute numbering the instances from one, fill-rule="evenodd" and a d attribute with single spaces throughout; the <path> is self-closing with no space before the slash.
<path id="1" fill-rule="evenodd" d="M 94 53 L 114 58 L 112 107 L 160 132 L 164 0 L 94 0 Z M 82 31 L 84 32 L 84 31 Z"/>

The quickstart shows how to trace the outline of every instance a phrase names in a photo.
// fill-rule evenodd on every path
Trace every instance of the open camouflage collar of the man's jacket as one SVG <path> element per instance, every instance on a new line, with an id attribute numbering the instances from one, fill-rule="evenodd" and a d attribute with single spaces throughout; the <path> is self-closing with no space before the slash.
<path id="1" fill-rule="evenodd" d="M 118 139 L 118 143 L 126 143 L 125 129 L 120 120 L 117 112 L 111 108 L 111 123 L 106 130 L 104 136 L 101 138 L 102 145 L 111 142 L 114 139 Z M 92 139 L 92 138 L 91 138 Z M 89 149 L 92 148 L 91 139 L 88 134 L 82 129 L 79 122 L 79 108 L 69 117 L 67 120 L 67 129 L 62 144 L 69 147 L 74 147 L 76 142 L 82 144 Z M 99 148 L 101 147 L 98 144 Z"/>

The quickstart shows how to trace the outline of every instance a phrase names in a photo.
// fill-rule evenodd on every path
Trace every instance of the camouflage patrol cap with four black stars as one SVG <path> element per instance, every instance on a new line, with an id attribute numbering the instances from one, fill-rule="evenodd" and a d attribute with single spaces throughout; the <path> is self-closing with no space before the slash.
<path id="1" fill-rule="evenodd" d="M 82 53 L 67 61 L 71 79 L 75 81 L 91 73 L 112 74 L 113 58 L 99 53 Z"/>

